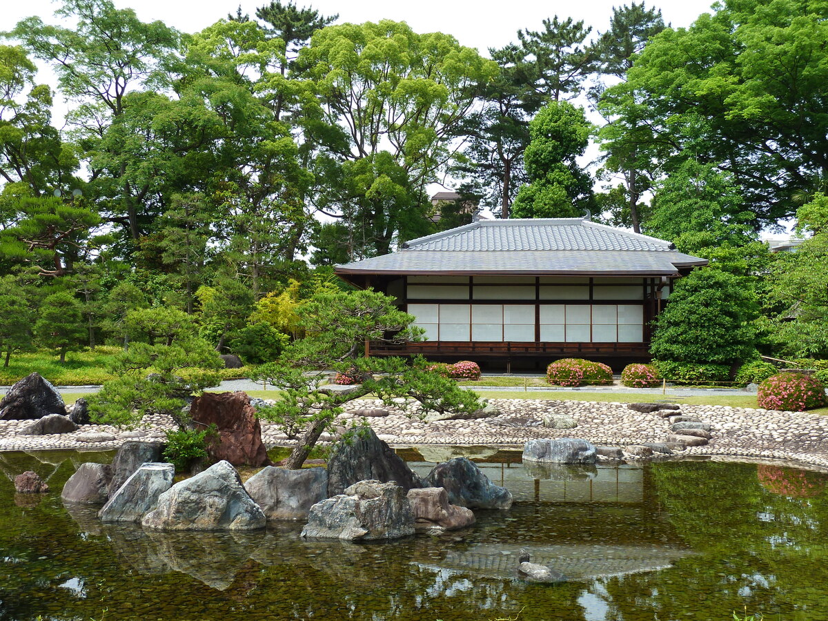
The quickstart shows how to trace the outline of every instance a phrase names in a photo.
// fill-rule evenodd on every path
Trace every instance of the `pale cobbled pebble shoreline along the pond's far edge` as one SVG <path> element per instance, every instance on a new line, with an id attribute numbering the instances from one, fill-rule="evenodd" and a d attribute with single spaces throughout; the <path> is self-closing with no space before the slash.
<path id="1" fill-rule="evenodd" d="M 634 449 L 645 443 L 664 442 L 672 435 L 670 422 L 659 412 L 640 413 L 616 402 L 573 402 L 531 399 L 490 399 L 499 416 L 463 421 L 421 421 L 418 404 L 397 401 L 393 407 L 370 399 L 349 403 L 349 411 L 384 408 L 388 416 L 366 419 L 381 440 L 393 446 L 488 445 L 522 447 L 536 438 L 581 438 L 595 445 L 618 446 L 625 460 L 641 459 Z M 403 408 L 407 408 L 408 413 Z M 676 456 L 710 456 L 759 460 L 786 460 L 828 470 L 828 417 L 808 412 L 777 412 L 727 406 L 682 405 L 682 416 L 710 423 L 712 439 L 705 446 L 687 447 Z M 558 430 L 540 425 L 542 416 L 566 415 L 578 423 Z M 346 412 L 337 426 L 361 416 Z M 7 450 L 109 450 L 127 440 L 163 440 L 164 431 L 175 428 L 168 416 L 145 416 L 141 426 L 119 431 L 113 426 L 86 425 L 79 431 L 51 436 L 22 436 L 17 431 L 31 421 L 0 421 L 0 451 Z M 89 434 L 106 434 L 89 441 Z M 86 440 L 84 441 L 84 438 Z M 262 421 L 262 440 L 268 446 L 291 445 L 277 426 Z M 323 435 L 320 443 L 335 440 Z"/>

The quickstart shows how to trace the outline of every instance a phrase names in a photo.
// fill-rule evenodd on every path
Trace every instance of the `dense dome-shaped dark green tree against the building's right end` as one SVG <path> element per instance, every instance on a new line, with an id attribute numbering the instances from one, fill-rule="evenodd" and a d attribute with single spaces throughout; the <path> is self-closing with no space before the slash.
<path id="1" fill-rule="evenodd" d="M 733 364 L 755 350 L 756 296 L 738 277 L 697 269 L 675 284 L 658 315 L 650 353 L 659 360 Z M 666 377 L 670 377 L 664 369 Z"/>

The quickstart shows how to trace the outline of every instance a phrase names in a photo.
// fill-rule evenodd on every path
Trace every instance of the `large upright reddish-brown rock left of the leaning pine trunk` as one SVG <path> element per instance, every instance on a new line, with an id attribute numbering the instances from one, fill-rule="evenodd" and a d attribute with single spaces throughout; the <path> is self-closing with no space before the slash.
<path id="1" fill-rule="evenodd" d="M 262 443 L 262 427 L 245 392 L 205 392 L 193 400 L 190 416 L 200 429 L 218 427 L 219 439 L 208 447 L 214 460 L 232 465 L 270 464 Z"/>

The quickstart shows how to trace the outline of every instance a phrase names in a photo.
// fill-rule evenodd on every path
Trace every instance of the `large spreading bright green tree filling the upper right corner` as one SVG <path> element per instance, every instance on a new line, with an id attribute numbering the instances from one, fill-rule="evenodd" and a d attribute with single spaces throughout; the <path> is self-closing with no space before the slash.
<path id="1" fill-rule="evenodd" d="M 822 2 L 721 2 L 653 37 L 628 81 L 606 91 L 606 146 L 634 146 L 639 166 L 667 174 L 688 156 L 713 163 L 734 176 L 757 227 L 775 224 L 828 174 L 826 50 Z"/>

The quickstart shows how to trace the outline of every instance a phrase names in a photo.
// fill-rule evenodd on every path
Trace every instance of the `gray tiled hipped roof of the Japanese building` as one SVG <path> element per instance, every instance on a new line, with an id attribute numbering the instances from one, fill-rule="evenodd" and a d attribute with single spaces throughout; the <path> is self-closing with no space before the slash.
<path id="1" fill-rule="evenodd" d="M 508 273 L 669 276 L 705 259 L 662 239 L 581 219 L 482 221 L 412 240 L 407 248 L 337 266 L 342 274 Z"/>

